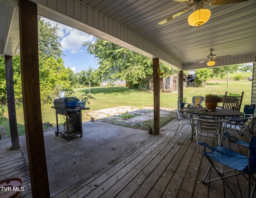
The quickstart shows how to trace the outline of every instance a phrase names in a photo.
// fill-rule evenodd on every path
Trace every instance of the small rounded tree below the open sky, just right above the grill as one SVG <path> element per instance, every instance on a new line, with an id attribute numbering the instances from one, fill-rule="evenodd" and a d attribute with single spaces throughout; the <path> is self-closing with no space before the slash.
<path id="1" fill-rule="evenodd" d="M 100 86 L 100 75 L 98 75 L 98 70 L 94 68 L 89 67 L 88 70 L 82 70 L 78 72 L 77 76 L 81 85 L 89 86 L 90 81 L 90 86 Z"/>

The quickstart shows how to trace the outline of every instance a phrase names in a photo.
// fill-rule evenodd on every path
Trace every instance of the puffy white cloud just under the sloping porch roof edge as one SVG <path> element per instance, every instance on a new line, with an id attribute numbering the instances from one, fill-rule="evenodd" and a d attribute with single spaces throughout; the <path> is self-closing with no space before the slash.
<path id="1" fill-rule="evenodd" d="M 93 36 L 89 35 L 80 30 L 65 26 L 63 24 L 54 22 L 52 20 L 44 18 L 45 22 L 50 22 L 53 26 L 57 25 L 58 36 L 61 38 L 60 44 L 62 45 L 62 50 L 68 50 L 70 54 L 76 54 L 83 51 L 83 43 L 92 41 Z"/>

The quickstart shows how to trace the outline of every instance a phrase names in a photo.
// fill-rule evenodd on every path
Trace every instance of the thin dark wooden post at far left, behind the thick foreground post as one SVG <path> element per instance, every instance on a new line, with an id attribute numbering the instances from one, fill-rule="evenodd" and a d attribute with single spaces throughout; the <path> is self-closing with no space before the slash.
<path id="1" fill-rule="evenodd" d="M 18 127 L 16 119 L 15 101 L 14 101 L 14 86 L 13 86 L 13 69 L 12 56 L 4 56 L 5 60 L 5 78 L 6 92 L 9 115 L 9 126 L 12 140 L 12 149 L 20 148 Z"/>

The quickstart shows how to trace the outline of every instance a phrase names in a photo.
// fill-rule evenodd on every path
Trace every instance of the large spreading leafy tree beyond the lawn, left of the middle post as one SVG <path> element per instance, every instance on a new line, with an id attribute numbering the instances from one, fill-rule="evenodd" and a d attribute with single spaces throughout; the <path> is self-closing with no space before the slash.
<path id="1" fill-rule="evenodd" d="M 152 59 L 136 52 L 96 38 L 95 42 L 85 42 L 88 53 L 98 59 L 100 67 L 98 73 L 103 79 L 112 81 L 120 78 L 131 84 L 138 84 L 140 79 L 152 75 Z"/>

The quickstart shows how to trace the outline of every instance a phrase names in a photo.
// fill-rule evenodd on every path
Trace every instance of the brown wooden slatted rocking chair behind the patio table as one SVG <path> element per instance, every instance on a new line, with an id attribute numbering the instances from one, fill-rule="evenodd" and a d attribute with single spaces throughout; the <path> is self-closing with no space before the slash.
<path id="1" fill-rule="evenodd" d="M 227 96 L 227 93 L 228 92 L 225 93 L 222 106 L 218 107 L 227 110 L 240 111 L 244 92 L 242 92 L 241 96 Z"/>

